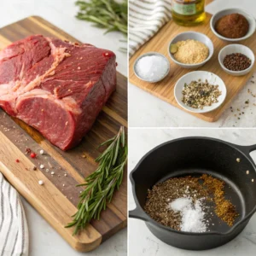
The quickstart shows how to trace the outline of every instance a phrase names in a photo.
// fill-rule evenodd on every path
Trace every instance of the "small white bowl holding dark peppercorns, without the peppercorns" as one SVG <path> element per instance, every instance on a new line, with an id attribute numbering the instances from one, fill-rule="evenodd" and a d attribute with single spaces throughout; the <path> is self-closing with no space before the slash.
<path id="1" fill-rule="evenodd" d="M 232 70 L 224 67 L 224 57 L 226 55 L 230 55 L 233 53 L 241 53 L 243 55 L 246 55 L 252 61 L 251 66 L 248 67 L 247 69 L 241 70 L 241 71 L 232 71 Z M 253 51 L 245 45 L 229 44 L 219 51 L 218 62 L 219 62 L 220 67 L 222 67 L 222 69 L 224 70 L 224 72 L 226 72 L 232 76 L 238 77 L 238 76 L 244 76 L 252 70 L 254 62 L 255 62 L 255 56 L 253 54 Z"/>

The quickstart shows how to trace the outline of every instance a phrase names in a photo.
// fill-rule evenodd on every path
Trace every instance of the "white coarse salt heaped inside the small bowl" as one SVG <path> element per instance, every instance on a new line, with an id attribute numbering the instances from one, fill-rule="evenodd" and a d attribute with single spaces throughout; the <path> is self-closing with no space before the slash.
<path id="1" fill-rule="evenodd" d="M 168 71 L 168 62 L 160 55 L 142 57 L 137 61 L 136 70 L 141 79 L 156 81 L 162 79 Z"/>

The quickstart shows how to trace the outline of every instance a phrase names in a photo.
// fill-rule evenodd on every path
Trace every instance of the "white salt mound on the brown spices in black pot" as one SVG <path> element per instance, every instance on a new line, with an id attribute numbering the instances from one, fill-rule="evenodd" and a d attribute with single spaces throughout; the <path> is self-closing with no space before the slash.
<path id="1" fill-rule="evenodd" d="M 205 212 L 202 209 L 201 200 L 196 200 L 193 203 L 190 198 L 177 198 L 168 206 L 173 211 L 181 213 L 180 229 L 182 231 L 195 233 L 207 231 L 207 224 L 204 221 Z"/>

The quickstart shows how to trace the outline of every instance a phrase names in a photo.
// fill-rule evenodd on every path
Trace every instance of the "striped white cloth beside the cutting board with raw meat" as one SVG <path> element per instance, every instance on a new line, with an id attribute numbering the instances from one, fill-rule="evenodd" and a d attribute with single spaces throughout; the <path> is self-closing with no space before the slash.
<path id="1" fill-rule="evenodd" d="M 0 172 L 0 256 L 27 256 L 26 216 L 17 191 Z"/>

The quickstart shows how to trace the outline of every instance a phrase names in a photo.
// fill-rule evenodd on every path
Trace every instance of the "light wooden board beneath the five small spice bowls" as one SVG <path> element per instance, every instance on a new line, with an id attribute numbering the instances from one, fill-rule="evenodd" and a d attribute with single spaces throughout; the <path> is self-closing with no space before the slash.
<path id="1" fill-rule="evenodd" d="M 189 73 L 191 69 L 184 69 L 182 67 L 177 66 L 168 55 L 168 45 L 172 38 L 174 38 L 177 34 L 186 31 L 195 31 L 201 32 L 207 35 L 212 40 L 214 45 L 214 54 L 212 55 L 212 59 L 207 62 L 203 67 L 199 67 L 197 70 L 204 70 L 209 71 L 212 73 L 217 74 L 221 79 L 224 80 L 224 83 L 227 87 L 227 97 L 224 101 L 224 104 L 217 108 L 216 110 L 209 112 L 209 113 L 191 113 L 196 117 L 206 120 L 208 122 L 214 122 L 219 119 L 222 113 L 224 113 L 225 109 L 230 106 L 230 102 L 238 95 L 239 91 L 243 88 L 245 84 L 247 84 L 248 79 L 251 78 L 253 72 L 255 71 L 255 65 L 253 70 L 248 73 L 246 76 L 242 77 L 233 77 L 229 74 L 225 73 L 223 69 L 219 66 L 218 63 L 218 52 L 222 49 L 225 45 L 229 44 L 218 39 L 213 33 L 210 28 L 210 19 L 212 15 L 207 14 L 207 20 L 204 24 L 195 27 L 184 27 L 184 26 L 177 26 L 172 20 L 169 21 L 166 26 L 163 26 L 160 32 L 158 32 L 154 38 L 148 41 L 148 43 L 144 44 L 143 47 L 137 50 L 135 55 L 131 57 L 130 64 L 129 64 L 129 79 L 131 84 L 135 84 L 138 87 L 142 88 L 143 90 L 148 91 L 154 96 L 159 97 L 161 100 L 172 104 L 177 108 L 181 108 L 174 97 L 174 86 L 177 83 L 177 80 L 180 79 L 184 74 Z M 251 38 L 244 40 L 241 44 L 247 45 L 250 49 L 253 50 L 254 54 L 256 53 L 256 33 L 253 34 Z M 148 51 L 157 51 L 163 55 L 166 55 L 167 59 L 171 63 L 171 72 L 159 83 L 150 84 L 148 82 L 142 81 L 138 79 L 135 73 L 133 72 L 133 65 L 136 61 L 137 57 L 143 55 Z M 183 108 L 181 108 L 183 109 Z M 185 111 L 183 109 L 183 111 Z"/>

